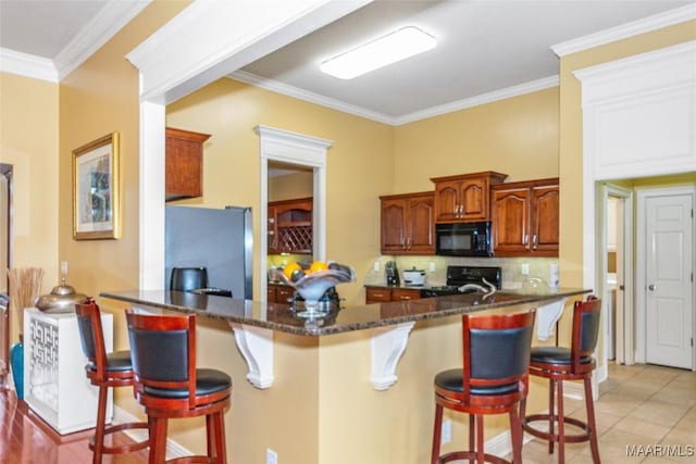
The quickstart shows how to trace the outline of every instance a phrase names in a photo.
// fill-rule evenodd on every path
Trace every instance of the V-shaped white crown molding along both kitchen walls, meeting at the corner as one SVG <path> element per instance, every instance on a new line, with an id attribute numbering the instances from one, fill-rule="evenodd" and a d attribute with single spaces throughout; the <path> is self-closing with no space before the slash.
<path id="1" fill-rule="evenodd" d="M 356 116 L 365 117 L 368 120 L 376 121 L 377 123 L 388 124 L 390 126 L 400 126 L 402 124 L 412 123 L 420 120 L 425 120 L 433 116 L 438 116 L 445 113 L 451 113 L 455 111 L 465 110 L 468 108 L 477 106 L 480 104 L 492 103 L 498 100 L 505 100 L 511 97 L 518 97 L 524 93 L 531 93 L 537 90 L 544 90 L 550 87 L 558 87 L 558 76 L 545 77 L 543 79 L 533 80 L 519 86 L 508 87 L 505 89 L 496 90 L 489 93 L 483 93 L 476 97 L 458 100 L 451 103 L 433 106 L 426 110 L 417 111 L 406 114 L 403 116 L 393 117 L 375 111 L 370 111 L 361 106 L 348 104 L 343 101 L 324 97 L 319 93 L 302 90 L 297 87 L 288 86 L 273 79 L 266 79 L 259 77 L 256 74 L 247 73 L 246 71 L 235 71 L 227 75 L 227 78 L 233 80 L 239 80 L 245 84 L 260 87 L 265 90 L 270 90 L 276 93 L 285 95 L 296 98 L 298 100 L 315 103 L 321 106 L 338 110 L 344 113 L 353 114 Z"/>

